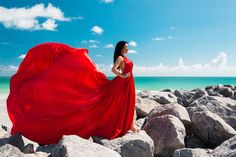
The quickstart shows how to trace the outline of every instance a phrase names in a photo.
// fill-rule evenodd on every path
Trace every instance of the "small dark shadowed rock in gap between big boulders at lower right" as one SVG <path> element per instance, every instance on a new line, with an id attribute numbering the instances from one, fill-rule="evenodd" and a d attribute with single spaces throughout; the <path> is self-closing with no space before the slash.
<path id="1" fill-rule="evenodd" d="M 187 135 L 185 137 L 185 147 L 186 148 L 205 148 L 206 145 L 203 141 L 196 137 L 194 134 Z"/>

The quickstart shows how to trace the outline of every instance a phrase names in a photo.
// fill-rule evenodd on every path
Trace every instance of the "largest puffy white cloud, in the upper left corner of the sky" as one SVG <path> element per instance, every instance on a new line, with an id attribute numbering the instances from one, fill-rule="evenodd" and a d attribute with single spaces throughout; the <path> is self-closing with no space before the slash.
<path id="1" fill-rule="evenodd" d="M 40 23 L 38 18 L 45 18 Z M 55 30 L 56 21 L 71 21 L 82 17 L 65 17 L 60 8 L 54 7 L 51 3 L 47 7 L 44 4 L 36 4 L 32 7 L 5 8 L 0 6 L 0 23 L 5 28 L 20 30 Z"/>

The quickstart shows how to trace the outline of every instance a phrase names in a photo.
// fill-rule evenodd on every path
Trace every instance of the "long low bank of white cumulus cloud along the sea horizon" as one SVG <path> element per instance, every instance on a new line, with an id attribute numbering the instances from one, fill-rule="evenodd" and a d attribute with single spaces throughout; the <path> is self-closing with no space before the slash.
<path id="1" fill-rule="evenodd" d="M 100 65 L 103 72 L 110 73 L 112 64 Z M 208 63 L 185 64 L 179 58 L 175 66 L 159 63 L 156 66 L 141 66 L 134 64 L 133 73 L 136 76 L 236 76 L 236 67 L 227 66 L 227 54 L 220 52 Z"/>

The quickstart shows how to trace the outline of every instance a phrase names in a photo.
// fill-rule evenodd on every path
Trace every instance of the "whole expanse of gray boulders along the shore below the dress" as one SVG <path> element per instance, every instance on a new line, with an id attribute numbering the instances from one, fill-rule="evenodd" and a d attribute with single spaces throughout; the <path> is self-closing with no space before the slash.
<path id="1" fill-rule="evenodd" d="M 0 128 L 0 156 L 6 157 L 235 157 L 236 86 L 136 93 L 139 133 L 113 140 L 65 135 L 39 146 Z"/>

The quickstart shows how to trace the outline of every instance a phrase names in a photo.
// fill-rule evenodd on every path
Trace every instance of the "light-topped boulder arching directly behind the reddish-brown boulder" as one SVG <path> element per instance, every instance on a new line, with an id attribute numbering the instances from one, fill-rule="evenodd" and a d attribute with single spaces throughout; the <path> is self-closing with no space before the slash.
<path id="1" fill-rule="evenodd" d="M 170 103 L 155 107 L 148 115 L 148 119 L 166 114 L 171 114 L 178 117 L 186 128 L 190 127 L 191 120 L 188 115 L 188 111 L 185 107 L 179 105 L 178 103 Z"/>

